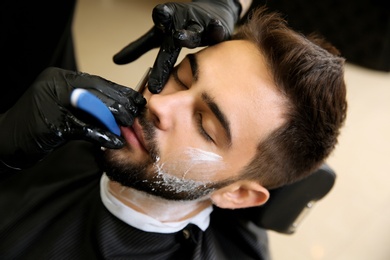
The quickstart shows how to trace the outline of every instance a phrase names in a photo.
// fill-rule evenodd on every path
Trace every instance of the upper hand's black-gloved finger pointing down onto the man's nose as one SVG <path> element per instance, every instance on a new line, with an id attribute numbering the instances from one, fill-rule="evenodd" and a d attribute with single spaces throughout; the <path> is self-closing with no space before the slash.
<path id="1" fill-rule="evenodd" d="M 180 54 L 173 38 L 165 36 L 148 80 L 149 91 L 158 94 L 163 89 Z"/>

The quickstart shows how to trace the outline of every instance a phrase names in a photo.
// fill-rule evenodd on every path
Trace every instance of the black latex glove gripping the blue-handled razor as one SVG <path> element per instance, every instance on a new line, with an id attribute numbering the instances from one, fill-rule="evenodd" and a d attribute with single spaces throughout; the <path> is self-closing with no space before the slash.
<path id="1" fill-rule="evenodd" d="M 70 94 L 75 88 L 87 89 L 101 99 L 119 125 L 132 125 L 146 104 L 131 88 L 86 73 L 48 68 L 10 110 L 0 115 L 3 163 L 26 168 L 68 140 L 87 140 L 114 149 L 124 145 L 121 137 L 71 106 Z"/>

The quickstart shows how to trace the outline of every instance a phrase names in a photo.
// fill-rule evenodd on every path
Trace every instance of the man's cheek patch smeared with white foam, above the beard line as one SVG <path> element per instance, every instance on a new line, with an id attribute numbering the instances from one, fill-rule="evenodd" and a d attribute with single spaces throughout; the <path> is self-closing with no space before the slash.
<path id="1" fill-rule="evenodd" d="M 156 164 L 159 174 L 201 182 L 218 181 L 221 173 L 228 168 L 218 154 L 192 147 L 171 153 Z"/>

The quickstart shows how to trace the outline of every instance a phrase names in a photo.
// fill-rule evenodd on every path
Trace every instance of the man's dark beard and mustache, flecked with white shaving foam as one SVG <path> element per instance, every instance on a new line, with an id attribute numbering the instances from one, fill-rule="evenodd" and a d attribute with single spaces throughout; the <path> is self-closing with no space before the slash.
<path id="1" fill-rule="evenodd" d="M 150 156 L 143 162 L 133 162 L 128 159 L 125 151 L 107 149 L 104 152 L 103 169 L 111 181 L 118 182 L 125 187 L 175 201 L 207 198 L 214 190 L 225 187 L 235 181 L 234 179 L 225 179 L 217 182 L 196 181 L 179 178 L 169 172 L 165 172 L 158 163 L 160 152 L 156 142 L 155 126 L 146 119 L 145 110 L 139 116 L 139 123 L 142 126 Z M 131 147 L 124 149 L 131 149 Z"/>

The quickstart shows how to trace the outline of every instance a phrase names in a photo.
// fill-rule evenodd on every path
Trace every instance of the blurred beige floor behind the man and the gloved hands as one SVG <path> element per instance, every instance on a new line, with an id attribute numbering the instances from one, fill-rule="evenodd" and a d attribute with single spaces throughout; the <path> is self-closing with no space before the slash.
<path id="1" fill-rule="evenodd" d="M 135 86 L 157 51 L 122 66 L 112 56 L 152 26 L 152 8 L 162 2 L 79 0 L 80 69 Z M 336 184 L 294 234 L 270 232 L 275 260 L 390 259 L 390 73 L 347 64 L 346 81 L 348 119 L 328 160 Z"/>

